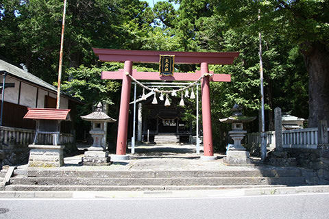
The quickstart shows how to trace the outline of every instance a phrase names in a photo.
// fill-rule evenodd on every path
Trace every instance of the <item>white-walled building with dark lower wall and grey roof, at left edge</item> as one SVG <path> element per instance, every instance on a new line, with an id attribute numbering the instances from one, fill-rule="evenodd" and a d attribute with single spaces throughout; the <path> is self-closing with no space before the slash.
<path id="1" fill-rule="evenodd" d="M 0 71 L 3 70 L 8 73 L 5 76 L 5 83 L 14 83 L 14 88 L 5 88 L 3 126 L 34 129 L 33 121 L 23 120 L 27 107 L 56 107 L 57 88 L 28 73 L 26 69 L 0 60 Z M 3 74 L 0 75 L 0 83 L 2 90 Z M 1 95 L 0 100 L 2 101 Z M 63 92 L 60 108 L 75 108 L 74 105 L 78 102 Z"/>

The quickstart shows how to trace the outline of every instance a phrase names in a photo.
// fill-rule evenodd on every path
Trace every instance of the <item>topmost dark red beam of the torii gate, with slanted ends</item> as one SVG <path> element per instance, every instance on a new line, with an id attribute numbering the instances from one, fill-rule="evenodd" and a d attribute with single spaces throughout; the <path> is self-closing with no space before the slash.
<path id="1" fill-rule="evenodd" d="M 159 55 L 175 55 L 175 64 L 232 64 L 239 56 L 239 52 L 203 53 L 203 52 L 174 52 L 174 51 L 146 51 L 123 49 L 97 49 L 93 51 L 103 62 L 146 62 L 158 63 Z"/>

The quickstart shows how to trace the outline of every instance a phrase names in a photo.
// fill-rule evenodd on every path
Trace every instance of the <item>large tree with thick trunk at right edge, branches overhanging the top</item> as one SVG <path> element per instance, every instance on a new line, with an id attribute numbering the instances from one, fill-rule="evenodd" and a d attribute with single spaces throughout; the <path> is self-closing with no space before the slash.
<path id="1" fill-rule="evenodd" d="M 317 127 L 317 120 L 329 123 L 329 1 L 239 0 L 215 5 L 231 27 L 278 33 L 299 46 L 309 74 L 308 126 Z"/>

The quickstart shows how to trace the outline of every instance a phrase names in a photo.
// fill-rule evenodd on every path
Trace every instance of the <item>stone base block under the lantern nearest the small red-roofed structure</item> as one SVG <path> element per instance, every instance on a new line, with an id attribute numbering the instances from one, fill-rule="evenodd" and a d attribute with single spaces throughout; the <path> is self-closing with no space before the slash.
<path id="1" fill-rule="evenodd" d="M 108 151 L 86 151 L 82 163 L 86 166 L 109 166 L 112 164 L 110 157 L 108 157 Z"/>

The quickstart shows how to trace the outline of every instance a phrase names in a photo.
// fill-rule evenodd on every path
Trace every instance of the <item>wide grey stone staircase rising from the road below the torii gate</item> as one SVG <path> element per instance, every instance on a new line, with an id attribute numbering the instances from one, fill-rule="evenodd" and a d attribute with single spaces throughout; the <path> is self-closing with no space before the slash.
<path id="1" fill-rule="evenodd" d="M 306 185 L 299 168 L 254 170 L 15 170 L 7 191 L 219 190 Z"/>

